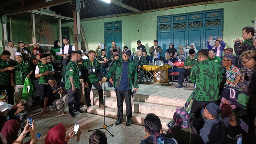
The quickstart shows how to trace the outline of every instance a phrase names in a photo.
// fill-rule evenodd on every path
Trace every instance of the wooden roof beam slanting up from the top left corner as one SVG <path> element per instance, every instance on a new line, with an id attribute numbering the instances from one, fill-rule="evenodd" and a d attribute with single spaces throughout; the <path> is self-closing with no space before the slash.
<path id="1" fill-rule="evenodd" d="M 17 10 L 4 11 L 3 15 L 18 14 L 18 13 L 27 12 L 27 11 L 30 11 L 30 10 L 38 10 L 38 9 L 41 9 L 41 8 L 56 6 L 56 5 L 64 4 L 64 3 L 67 3 L 67 2 L 71 2 L 71 0 L 53 0 L 53 1 L 50 1 L 50 2 L 44 1 L 44 3 L 40 3 L 40 4 L 37 4 L 37 5 L 34 5 L 34 6 L 27 6 L 27 7 L 24 7 L 24 8 L 17 9 Z"/>

